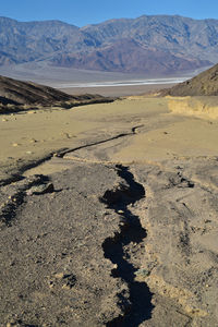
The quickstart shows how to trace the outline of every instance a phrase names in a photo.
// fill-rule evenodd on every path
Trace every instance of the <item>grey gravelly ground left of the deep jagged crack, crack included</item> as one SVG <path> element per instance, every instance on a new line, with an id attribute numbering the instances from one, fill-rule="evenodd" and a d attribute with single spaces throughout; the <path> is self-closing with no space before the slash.
<path id="1" fill-rule="evenodd" d="M 125 167 L 74 165 L 2 194 L 2 207 L 8 196 L 21 201 L 1 220 L 1 326 L 138 326 L 149 318 L 152 294 L 134 282 L 146 232 L 129 209 L 145 193 Z M 138 291 L 146 314 L 138 315 Z"/>

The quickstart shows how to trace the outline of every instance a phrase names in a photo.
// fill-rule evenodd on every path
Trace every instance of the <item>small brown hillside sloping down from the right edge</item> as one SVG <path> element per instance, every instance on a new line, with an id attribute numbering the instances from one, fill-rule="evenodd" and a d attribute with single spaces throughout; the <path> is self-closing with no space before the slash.
<path id="1" fill-rule="evenodd" d="M 218 96 L 218 64 L 164 93 L 171 96 Z"/>

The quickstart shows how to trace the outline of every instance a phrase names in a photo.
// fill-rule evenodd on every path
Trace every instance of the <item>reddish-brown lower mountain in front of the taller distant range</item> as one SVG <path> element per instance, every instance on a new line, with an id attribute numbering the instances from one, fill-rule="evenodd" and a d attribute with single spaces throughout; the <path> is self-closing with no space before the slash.
<path id="1" fill-rule="evenodd" d="M 117 40 L 101 50 L 97 49 L 88 53 L 60 53 L 52 59 L 52 62 L 77 69 L 125 73 L 158 72 L 159 74 L 170 74 L 175 70 L 189 71 L 209 64 L 206 60 L 179 58 L 170 51 L 149 48 L 130 38 Z"/>

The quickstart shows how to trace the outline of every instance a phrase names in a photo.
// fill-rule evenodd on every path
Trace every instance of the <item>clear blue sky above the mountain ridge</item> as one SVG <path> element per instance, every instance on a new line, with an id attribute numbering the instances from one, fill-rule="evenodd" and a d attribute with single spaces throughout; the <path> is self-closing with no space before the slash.
<path id="1" fill-rule="evenodd" d="M 218 19 L 218 0 L 0 0 L 0 16 L 60 20 L 77 26 L 143 14 Z"/>

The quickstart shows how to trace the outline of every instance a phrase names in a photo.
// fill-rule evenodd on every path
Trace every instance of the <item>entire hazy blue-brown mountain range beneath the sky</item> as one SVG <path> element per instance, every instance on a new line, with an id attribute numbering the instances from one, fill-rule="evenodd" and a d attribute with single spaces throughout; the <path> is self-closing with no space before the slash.
<path id="1" fill-rule="evenodd" d="M 0 17 L 0 65 L 35 61 L 149 75 L 189 72 L 218 62 L 218 20 L 143 15 L 80 28 Z"/>

